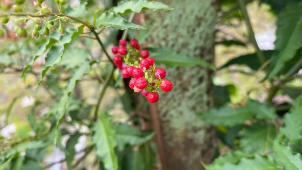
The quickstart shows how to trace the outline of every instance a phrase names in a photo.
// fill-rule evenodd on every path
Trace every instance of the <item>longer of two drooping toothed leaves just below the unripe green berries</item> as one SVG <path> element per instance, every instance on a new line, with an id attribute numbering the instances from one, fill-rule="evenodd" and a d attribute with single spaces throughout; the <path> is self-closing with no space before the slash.
<path id="1" fill-rule="evenodd" d="M 66 33 L 59 38 L 58 44 L 50 47 L 45 58 L 44 70 L 41 73 L 41 77 L 36 87 L 35 94 L 38 92 L 39 86 L 46 72 L 54 65 L 59 64 L 62 61 L 62 56 L 64 54 L 65 48 L 75 37 L 78 37 L 81 33 L 83 33 L 83 29 L 84 26 L 80 26 L 78 30 L 67 30 Z"/>

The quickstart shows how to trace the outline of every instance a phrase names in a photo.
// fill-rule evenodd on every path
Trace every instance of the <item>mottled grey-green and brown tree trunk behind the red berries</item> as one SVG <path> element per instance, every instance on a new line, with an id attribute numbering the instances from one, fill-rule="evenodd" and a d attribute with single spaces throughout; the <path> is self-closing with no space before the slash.
<path id="1" fill-rule="evenodd" d="M 173 48 L 212 63 L 217 1 L 164 0 L 163 3 L 174 10 L 147 13 L 147 20 L 155 20 L 148 44 Z M 150 106 L 150 111 L 157 109 L 160 116 L 163 169 L 202 169 L 200 161 L 213 159 L 214 135 L 195 113 L 204 112 L 212 105 L 211 73 L 202 67 L 161 67 L 166 69 L 166 78 L 174 85 L 171 92 L 161 92 L 159 102 Z"/>

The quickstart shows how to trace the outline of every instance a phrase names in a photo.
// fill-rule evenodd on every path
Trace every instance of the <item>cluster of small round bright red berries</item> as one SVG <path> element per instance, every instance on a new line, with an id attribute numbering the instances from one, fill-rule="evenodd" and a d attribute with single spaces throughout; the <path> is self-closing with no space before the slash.
<path id="1" fill-rule="evenodd" d="M 169 92 L 173 88 L 170 80 L 164 79 L 166 71 L 156 68 L 155 60 L 149 57 L 149 51 L 140 50 L 140 45 L 136 39 L 131 39 L 127 43 L 125 39 L 119 41 L 119 47 L 114 46 L 111 50 L 116 54 L 113 62 L 117 68 L 122 70 L 122 77 L 132 79 L 129 87 L 137 93 L 147 97 L 150 103 L 159 100 L 158 88 L 164 92 Z"/>

